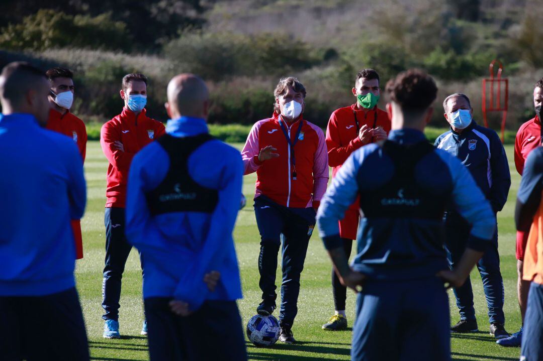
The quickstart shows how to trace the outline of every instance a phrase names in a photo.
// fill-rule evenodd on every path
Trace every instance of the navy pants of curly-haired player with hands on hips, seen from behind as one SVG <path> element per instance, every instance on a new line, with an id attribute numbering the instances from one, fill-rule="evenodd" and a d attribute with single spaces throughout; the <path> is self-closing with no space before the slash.
<path id="1" fill-rule="evenodd" d="M 437 277 L 367 280 L 356 301 L 351 359 L 450 361 L 449 314 L 449 297 Z"/>

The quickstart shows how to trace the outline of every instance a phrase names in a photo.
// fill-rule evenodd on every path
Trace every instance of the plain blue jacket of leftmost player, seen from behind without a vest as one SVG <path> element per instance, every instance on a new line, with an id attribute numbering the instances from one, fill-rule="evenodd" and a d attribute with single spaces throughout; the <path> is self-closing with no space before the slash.
<path id="1" fill-rule="evenodd" d="M 71 138 L 33 115 L 0 114 L 0 296 L 75 286 L 70 220 L 83 216 L 83 163 Z"/>

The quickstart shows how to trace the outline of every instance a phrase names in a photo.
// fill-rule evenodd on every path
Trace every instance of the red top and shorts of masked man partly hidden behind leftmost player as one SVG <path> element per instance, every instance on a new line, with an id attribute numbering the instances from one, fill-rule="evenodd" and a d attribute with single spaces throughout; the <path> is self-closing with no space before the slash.
<path id="1" fill-rule="evenodd" d="M 49 111 L 49 120 L 47 121 L 47 129 L 57 133 L 65 134 L 73 139 L 77 144 L 79 153 L 83 162 L 87 150 L 87 128 L 83 120 L 75 117 L 70 111 L 62 114 L 55 109 Z M 83 237 L 81 237 L 81 221 L 72 220 L 73 237 L 75 240 L 75 259 L 83 258 Z"/>

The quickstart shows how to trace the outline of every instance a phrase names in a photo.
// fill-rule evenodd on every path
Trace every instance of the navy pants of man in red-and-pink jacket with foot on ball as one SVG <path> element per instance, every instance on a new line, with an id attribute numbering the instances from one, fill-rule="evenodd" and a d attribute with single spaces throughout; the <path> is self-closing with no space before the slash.
<path id="1" fill-rule="evenodd" d="M 307 246 L 315 226 L 315 210 L 311 207 L 283 207 L 266 196 L 255 198 L 254 207 L 261 237 L 258 270 L 262 299 L 273 301 L 277 297 L 275 272 L 282 240 L 283 281 L 279 323 L 281 326 L 292 326 L 298 313 L 300 274 L 304 269 Z"/>

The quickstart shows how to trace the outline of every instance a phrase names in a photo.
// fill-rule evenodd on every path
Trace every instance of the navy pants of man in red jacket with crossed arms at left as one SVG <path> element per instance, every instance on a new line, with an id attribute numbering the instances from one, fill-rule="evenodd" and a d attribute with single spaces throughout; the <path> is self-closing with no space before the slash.
<path id="1" fill-rule="evenodd" d="M 132 246 L 124 235 L 124 208 L 105 209 L 105 266 L 102 283 L 102 308 L 105 314 L 104 320 L 119 318 L 119 300 L 121 299 L 121 279 L 123 278 L 124 265 Z M 143 275 L 143 259 L 141 259 Z"/>

